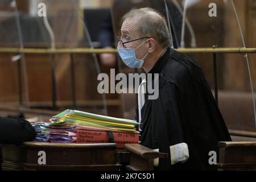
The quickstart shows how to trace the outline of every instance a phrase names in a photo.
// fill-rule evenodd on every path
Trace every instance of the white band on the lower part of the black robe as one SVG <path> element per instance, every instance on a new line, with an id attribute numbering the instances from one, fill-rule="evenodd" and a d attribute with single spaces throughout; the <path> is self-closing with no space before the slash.
<path id="1" fill-rule="evenodd" d="M 189 158 L 187 143 L 179 143 L 170 146 L 171 164 L 185 163 Z"/>

